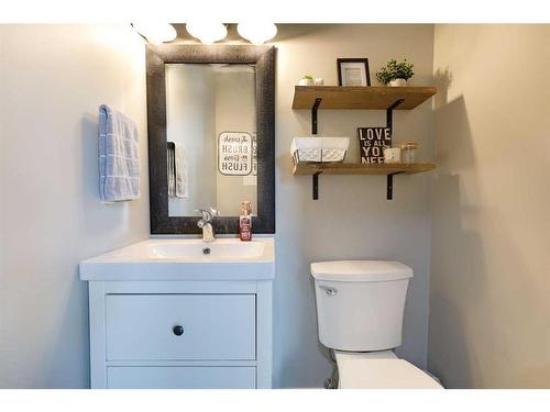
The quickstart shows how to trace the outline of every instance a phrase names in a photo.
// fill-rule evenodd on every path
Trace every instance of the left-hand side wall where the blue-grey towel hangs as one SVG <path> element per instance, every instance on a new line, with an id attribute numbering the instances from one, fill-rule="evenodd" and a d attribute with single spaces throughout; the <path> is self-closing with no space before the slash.
<path id="1" fill-rule="evenodd" d="M 138 122 L 139 200 L 99 201 L 101 103 Z M 143 41 L 130 26 L 0 25 L 0 388 L 86 388 L 78 261 L 148 235 Z"/>

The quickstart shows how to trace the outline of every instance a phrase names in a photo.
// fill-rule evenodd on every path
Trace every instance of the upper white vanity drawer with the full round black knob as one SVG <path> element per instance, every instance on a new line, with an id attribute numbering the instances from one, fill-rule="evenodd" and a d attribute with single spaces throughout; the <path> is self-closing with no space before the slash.
<path id="1" fill-rule="evenodd" d="M 255 294 L 108 294 L 106 322 L 107 360 L 256 357 Z"/>

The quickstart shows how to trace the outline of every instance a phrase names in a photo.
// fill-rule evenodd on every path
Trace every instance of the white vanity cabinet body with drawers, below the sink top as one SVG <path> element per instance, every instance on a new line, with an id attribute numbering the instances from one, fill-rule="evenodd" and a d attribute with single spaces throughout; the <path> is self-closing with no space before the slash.
<path id="1" fill-rule="evenodd" d="M 90 281 L 91 388 L 271 388 L 271 281 Z"/>

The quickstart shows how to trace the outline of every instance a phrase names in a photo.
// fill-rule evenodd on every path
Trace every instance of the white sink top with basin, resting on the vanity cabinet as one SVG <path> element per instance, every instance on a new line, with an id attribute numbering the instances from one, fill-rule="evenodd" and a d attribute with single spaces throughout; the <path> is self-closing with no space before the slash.
<path id="1" fill-rule="evenodd" d="M 81 280 L 258 280 L 274 277 L 274 242 L 270 237 L 252 242 L 218 238 L 212 243 L 204 243 L 200 238 L 155 238 L 80 263 Z"/>

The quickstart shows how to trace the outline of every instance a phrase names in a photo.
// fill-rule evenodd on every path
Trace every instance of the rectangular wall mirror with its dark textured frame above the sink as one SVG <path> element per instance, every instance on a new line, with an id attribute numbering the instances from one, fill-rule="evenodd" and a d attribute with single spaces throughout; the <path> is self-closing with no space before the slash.
<path id="1" fill-rule="evenodd" d="M 275 49 L 147 45 L 152 234 L 237 234 L 242 201 L 253 232 L 275 233 Z"/>

